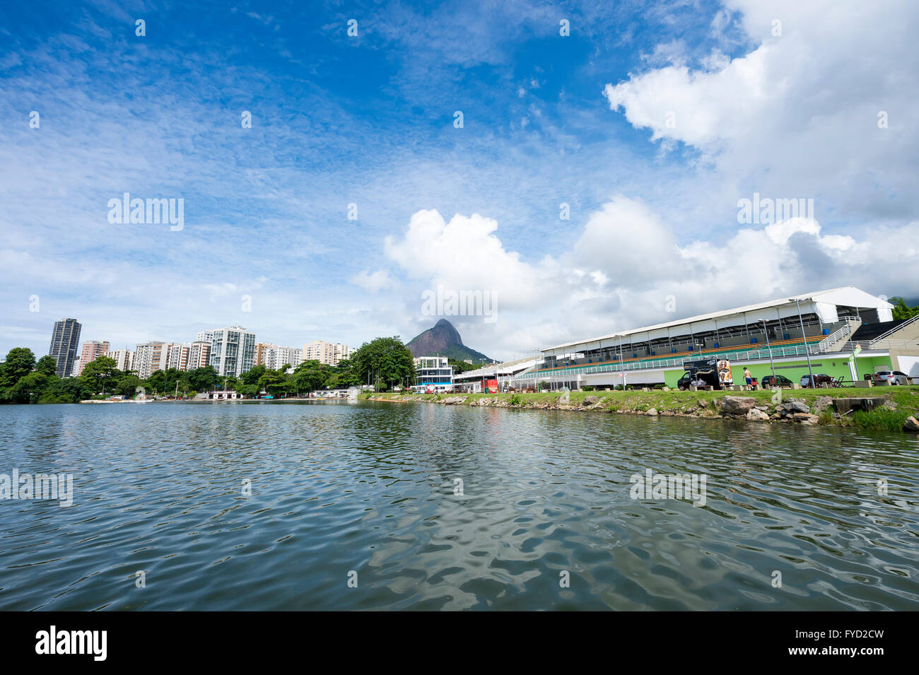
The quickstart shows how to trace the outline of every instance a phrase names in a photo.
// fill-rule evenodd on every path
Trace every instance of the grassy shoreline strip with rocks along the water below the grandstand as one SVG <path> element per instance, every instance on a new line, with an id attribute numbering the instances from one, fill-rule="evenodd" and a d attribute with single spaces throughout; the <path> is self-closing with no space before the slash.
<path id="1" fill-rule="evenodd" d="M 647 417 L 688 417 L 749 422 L 789 422 L 840 426 L 866 431 L 919 432 L 919 387 L 889 388 L 868 395 L 864 389 L 781 389 L 758 391 L 570 391 L 504 394 L 364 393 L 362 400 L 429 402 L 517 410 L 584 411 Z M 829 392 L 832 391 L 832 394 Z M 868 390 L 870 391 L 870 390 Z M 567 398 L 566 398 L 567 397 Z M 882 399 L 873 410 L 848 410 L 835 399 Z M 911 422 L 912 421 L 912 422 Z"/>

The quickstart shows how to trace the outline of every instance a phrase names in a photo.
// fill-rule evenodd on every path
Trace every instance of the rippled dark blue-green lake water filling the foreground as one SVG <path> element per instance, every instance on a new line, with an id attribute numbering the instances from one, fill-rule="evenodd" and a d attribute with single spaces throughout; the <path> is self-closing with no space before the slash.
<path id="1" fill-rule="evenodd" d="M 707 475 L 706 504 L 631 499 L 646 468 Z M 0 610 L 919 607 L 905 433 L 416 403 L 2 406 L 13 469 L 73 474 L 74 504 L 0 501 Z"/>

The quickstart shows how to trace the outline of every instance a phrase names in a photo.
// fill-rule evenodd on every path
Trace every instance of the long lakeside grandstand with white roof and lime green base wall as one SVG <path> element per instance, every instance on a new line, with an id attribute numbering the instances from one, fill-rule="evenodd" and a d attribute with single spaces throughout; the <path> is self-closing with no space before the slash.
<path id="1" fill-rule="evenodd" d="M 777 298 L 558 344 L 499 380 L 502 388 L 673 388 L 686 361 L 710 357 L 795 383 L 825 374 L 851 384 L 881 370 L 919 377 L 919 321 L 894 321 L 892 309 L 851 286 Z"/>

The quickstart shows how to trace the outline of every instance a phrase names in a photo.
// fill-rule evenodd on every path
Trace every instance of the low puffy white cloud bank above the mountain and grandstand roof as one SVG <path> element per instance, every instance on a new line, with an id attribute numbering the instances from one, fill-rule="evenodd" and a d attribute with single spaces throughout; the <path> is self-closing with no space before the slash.
<path id="1" fill-rule="evenodd" d="M 793 293 L 853 285 L 894 295 L 919 285 L 913 261 L 919 221 L 879 227 L 871 236 L 824 234 L 816 219 L 744 227 L 731 236 L 681 242 L 647 204 L 618 195 L 587 219 L 572 242 L 533 262 L 509 252 L 498 224 L 481 215 L 448 222 L 418 211 L 385 254 L 422 287 L 494 289 L 496 325 L 473 326 L 472 343 L 490 354 L 585 338 Z M 377 273 L 374 273 L 377 274 Z M 372 275 L 371 275 L 372 276 Z M 675 304 L 675 312 L 668 305 Z M 451 318 L 456 321 L 456 318 Z M 467 321 L 467 323 L 469 323 Z"/>

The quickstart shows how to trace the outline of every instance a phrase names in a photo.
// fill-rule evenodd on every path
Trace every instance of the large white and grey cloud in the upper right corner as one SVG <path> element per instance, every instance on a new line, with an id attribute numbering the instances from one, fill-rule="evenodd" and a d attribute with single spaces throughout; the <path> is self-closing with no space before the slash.
<path id="1" fill-rule="evenodd" d="M 818 211 L 915 219 L 919 69 L 914 3 L 728 0 L 751 51 L 632 73 L 604 94 L 666 148 L 700 152 L 725 181 Z M 666 51 L 667 45 L 661 49 Z M 879 126 L 883 113 L 887 126 Z"/>

